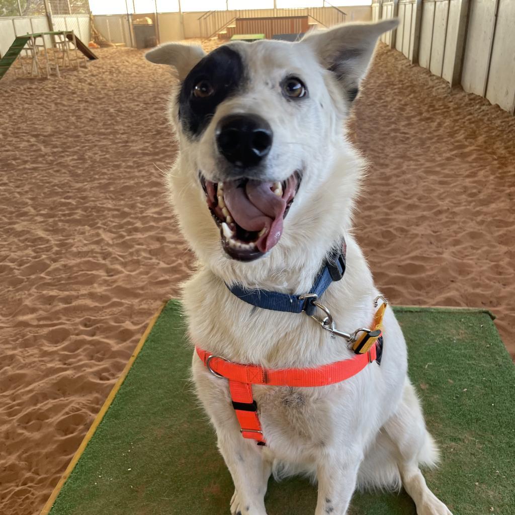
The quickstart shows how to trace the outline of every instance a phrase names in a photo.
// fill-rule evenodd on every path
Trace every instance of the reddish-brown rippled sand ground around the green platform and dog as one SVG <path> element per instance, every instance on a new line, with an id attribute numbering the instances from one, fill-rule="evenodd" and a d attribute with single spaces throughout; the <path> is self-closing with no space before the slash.
<path id="1" fill-rule="evenodd" d="M 170 78 L 130 49 L 0 82 L 0 505 L 39 513 L 192 256 L 163 195 Z M 515 343 L 515 120 L 380 49 L 351 127 L 356 232 L 397 304 L 481 306 Z"/>

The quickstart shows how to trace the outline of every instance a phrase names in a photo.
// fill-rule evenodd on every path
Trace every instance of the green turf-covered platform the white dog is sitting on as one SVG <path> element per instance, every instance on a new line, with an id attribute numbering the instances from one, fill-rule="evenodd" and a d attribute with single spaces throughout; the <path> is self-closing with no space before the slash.
<path id="1" fill-rule="evenodd" d="M 397 308 L 409 369 L 442 449 L 428 485 L 454 515 L 515 514 L 515 368 L 487 312 Z M 159 316 L 52 515 L 227 515 L 233 487 L 187 381 L 180 304 Z M 315 487 L 270 480 L 269 515 L 313 515 Z M 48 511 L 45 511 L 47 513 Z M 356 495 L 351 515 L 415 515 L 405 493 Z"/>

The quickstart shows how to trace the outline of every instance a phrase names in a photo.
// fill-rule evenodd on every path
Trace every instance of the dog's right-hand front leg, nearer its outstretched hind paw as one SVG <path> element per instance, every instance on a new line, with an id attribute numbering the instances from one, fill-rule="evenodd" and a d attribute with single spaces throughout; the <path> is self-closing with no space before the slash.
<path id="1" fill-rule="evenodd" d="M 352 494 L 361 455 L 341 455 L 341 450 L 325 455 L 317 468 L 318 500 L 315 515 L 345 515 Z"/>

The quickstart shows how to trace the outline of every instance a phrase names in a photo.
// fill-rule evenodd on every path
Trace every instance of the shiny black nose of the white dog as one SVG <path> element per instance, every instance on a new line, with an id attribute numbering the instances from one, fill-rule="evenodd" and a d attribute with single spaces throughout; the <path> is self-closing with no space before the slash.
<path id="1" fill-rule="evenodd" d="M 255 166 L 272 147 L 272 129 L 257 114 L 230 114 L 216 127 L 216 144 L 221 155 L 236 166 Z"/>

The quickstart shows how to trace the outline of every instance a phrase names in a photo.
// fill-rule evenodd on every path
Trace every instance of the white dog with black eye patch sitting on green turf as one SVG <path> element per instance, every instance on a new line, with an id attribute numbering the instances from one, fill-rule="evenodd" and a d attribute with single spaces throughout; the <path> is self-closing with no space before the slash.
<path id="1" fill-rule="evenodd" d="M 184 286 L 193 377 L 234 481 L 233 515 L 266 515 L 272 471 L 315 475 L 317 515 L 347 513 L 356 488 L 401 482 L 419 515 L 451 513 L 419 469 L 438 452 L 401 329 L 386 302 L 374 305 L 351 233 L 364 161 L 344 124 L 377 39 L 396 24 L 146 56 L 180 79 L 169 190 L 199 261 Z M 327 290 L 314 285 L 322 271 Z"/>

